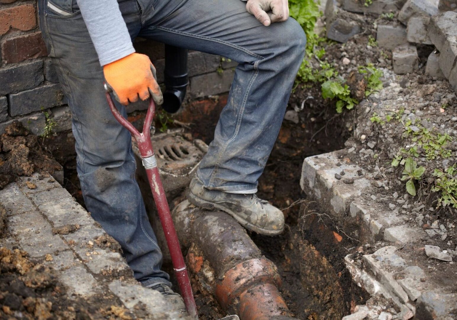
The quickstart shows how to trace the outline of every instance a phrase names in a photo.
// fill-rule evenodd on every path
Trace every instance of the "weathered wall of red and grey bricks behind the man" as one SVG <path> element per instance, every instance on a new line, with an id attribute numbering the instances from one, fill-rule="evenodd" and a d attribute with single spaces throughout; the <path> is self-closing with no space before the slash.
<path id="1" fill-rule="evenodd" d="M 138 52 L 149 55 L 158 71 L 159 83 L 163 82 L 164 45 L 137 39 L 134 46 Z M 0 51 L 0 134 L 13 119 L 37 135 L 43 134 L 43 111 L 54 118 L 55 131 L 69 130 L 69 108 L 47 58 L 35 0 L 0 0 Z M 189 52 L 186 99 L 228 92 L 234 66 L 235 63 L 223 62 L 219 56 Z M 132 104 L 128 112 L 145 107 L 145 103 Z"/>

